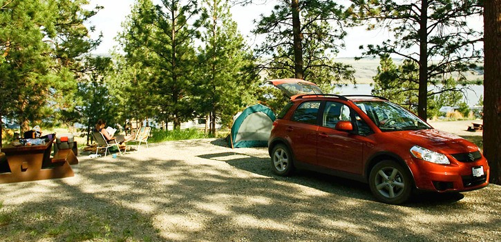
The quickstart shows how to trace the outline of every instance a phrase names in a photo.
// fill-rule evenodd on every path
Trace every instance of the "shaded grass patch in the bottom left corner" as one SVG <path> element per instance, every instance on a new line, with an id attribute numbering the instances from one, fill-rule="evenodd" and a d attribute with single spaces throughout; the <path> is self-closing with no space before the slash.
<path id="1" fill-rule="evenodd" d="M 63 213 L 60 209 L 39 212 L 47 208 L 35 207 L 10 212 L 8 224 L 0 226 L 5 232 L 0 241 L 161 241 L 149 216 L 113 205 L 99 210 L 65 208 Z M 0 214 L 6 212 L 0 210 Z"/>

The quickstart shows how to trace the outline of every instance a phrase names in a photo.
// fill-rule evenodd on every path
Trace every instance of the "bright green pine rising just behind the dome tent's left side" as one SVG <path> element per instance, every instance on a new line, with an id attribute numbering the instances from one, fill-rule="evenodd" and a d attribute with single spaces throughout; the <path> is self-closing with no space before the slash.
<path id="1" fill-rule="evenodd" d="M 202 112 L 209 112 L 214 134 L 218 119 L 230 125 L 233 115 L 249 104 L 256 81 L 245 73 L 245 67 L 252 65 L 252 54 L 231 20 L 228 1 L 205 0 L 202 4 L 202 15 L 207 19 L 202 24 L 205 32 L 201 39 L 204 47 L 200 50 L 198 97 Z"/>

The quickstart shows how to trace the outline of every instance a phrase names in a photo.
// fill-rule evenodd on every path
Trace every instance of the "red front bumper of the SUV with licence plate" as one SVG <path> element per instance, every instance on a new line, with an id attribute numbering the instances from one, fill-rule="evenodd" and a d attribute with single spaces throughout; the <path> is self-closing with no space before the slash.
<path id="1" fill-rule="evenodd" d="M 463 163 L 451 161 L 449 165 L 439 165 L 411 158 L 408 162 L 414 176 L 416 188 L 435 192 L 466 192 L 489 185 L 490 168 L 482 157 L 478 161 Z M 482 176 L 473 176 L 473 168 L 482 168 Z"/>

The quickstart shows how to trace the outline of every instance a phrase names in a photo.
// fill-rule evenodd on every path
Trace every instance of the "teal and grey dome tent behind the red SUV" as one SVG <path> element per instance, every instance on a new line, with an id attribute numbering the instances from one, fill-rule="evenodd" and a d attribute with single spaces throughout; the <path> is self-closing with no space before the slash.
<path id="1" fill-rule="evenodd" d="M 275 119 L 273 111 L 265 105 L 245 108 L 231 126 L 228 145 L 231 148 L 266 147 Z"/>

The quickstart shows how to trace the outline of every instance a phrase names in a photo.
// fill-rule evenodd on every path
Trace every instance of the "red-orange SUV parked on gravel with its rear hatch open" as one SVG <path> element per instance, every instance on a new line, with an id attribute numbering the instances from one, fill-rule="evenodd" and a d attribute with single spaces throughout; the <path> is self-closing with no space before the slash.
<path id="1" fill-rule="evenodd" d="M 322 94 L 299 79 L 269 82 L 291 97 L 268 141 L 278 175 L 298 168 L 362 181 L 392 204 L 415 188 L 464 192 L 489 185 L 489 165 L 476 145 L 388 99 Z"/>

